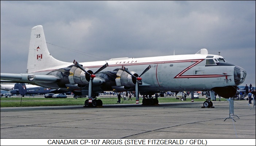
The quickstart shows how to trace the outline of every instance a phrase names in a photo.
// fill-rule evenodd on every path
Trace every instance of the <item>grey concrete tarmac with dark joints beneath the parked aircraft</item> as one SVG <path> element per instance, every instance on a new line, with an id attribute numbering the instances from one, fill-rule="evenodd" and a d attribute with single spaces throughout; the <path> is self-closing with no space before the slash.
<path id="1" fill-rule="evenodd" d="M 255 106 L 247 100 L 234 101 L 230 118 L 224 98 L 213 101 L 214 108 L 201 108 L 203 102 L 141 102 L 1 107 L 1 138 L 256 138 Z"/>

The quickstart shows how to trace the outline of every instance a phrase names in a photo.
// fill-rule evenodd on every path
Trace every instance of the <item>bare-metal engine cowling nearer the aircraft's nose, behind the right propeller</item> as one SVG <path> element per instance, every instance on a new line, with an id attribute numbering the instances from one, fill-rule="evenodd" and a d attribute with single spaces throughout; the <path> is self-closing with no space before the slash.
<path id="1" fill-rule="evenodd" d="M 139 76 L 136 72 L 131 71 L 131 73 L 134 76 Z M 129 75 L 127 72 L 124 70 L 118 70 L 117 73 L 117 78 L 116 78 L 116 86 L 125 86 L 125 87 L 134 87 L 136 84 L 136 78 L 133 78 L 131 75 Z"/>

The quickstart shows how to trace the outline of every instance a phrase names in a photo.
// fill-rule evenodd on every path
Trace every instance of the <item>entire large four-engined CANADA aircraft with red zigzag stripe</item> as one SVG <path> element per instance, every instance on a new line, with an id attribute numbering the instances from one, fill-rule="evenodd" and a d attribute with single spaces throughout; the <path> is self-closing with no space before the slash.
<path id="1" fill-rule="evenodd" d="M 246 76 L 243 68 L 226 63 L 220 55 L 209 55 L 206 49 L 190 55 L 62 62 L 50 55 L 41 25 L 31 30 L 27 72 L 1 73 L 1 80 L 68 89 L 75 95 L 88 95 L 85 106 L 93 107 L 102 105 L 102 100 L 96 99 L 102 91 L 135 91 L 136 103 L 139 93 L 152 97 L 160 91 L 211 90 L 230 98 Z M 155 98 L 149 100 L 158 103 Z M 209 101 L 205 103 L 212 106 Z"/>

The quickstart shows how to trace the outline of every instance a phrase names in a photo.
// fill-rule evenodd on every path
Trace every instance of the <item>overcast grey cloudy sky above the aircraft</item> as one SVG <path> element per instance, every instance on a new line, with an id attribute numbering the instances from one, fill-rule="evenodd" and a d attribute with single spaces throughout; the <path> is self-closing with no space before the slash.
<path id="1" fill-rule="evenodd" d="M 65 62 L 221 52 L 255 86 L 255 1 L 2 1 L 1 72 L 26 73 L 31 28 Z"/>

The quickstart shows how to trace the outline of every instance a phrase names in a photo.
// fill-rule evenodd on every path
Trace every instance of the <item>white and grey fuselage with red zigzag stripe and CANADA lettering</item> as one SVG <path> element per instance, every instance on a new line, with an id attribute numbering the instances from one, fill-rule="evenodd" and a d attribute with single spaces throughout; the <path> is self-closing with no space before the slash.
<path id="1" fill-rule="evenodd" d="M 143 84 L 140 86 L 140 90 L 152 90 L 152 88 L 155 90 L 157 88 L 158 91 L 197 91 L 210 90 L 213 87 L 235 86 L 233 77 L 235 66 L 206 66 L 206 56 L 201 54 L 171 55 L 122 60 L 110 59 L 80 64 L 93 72 L 105 63 L 108 63 L 108 67 L 102 71 L 111 71 L 125 66 L 129 71 L 134 71 L 138 75 L 150 65 L 150 70 L 141 76 Z M 69 65 L 72 63 L 32 72 L 32 74 L 46 74 L 46 72 Z"/>

